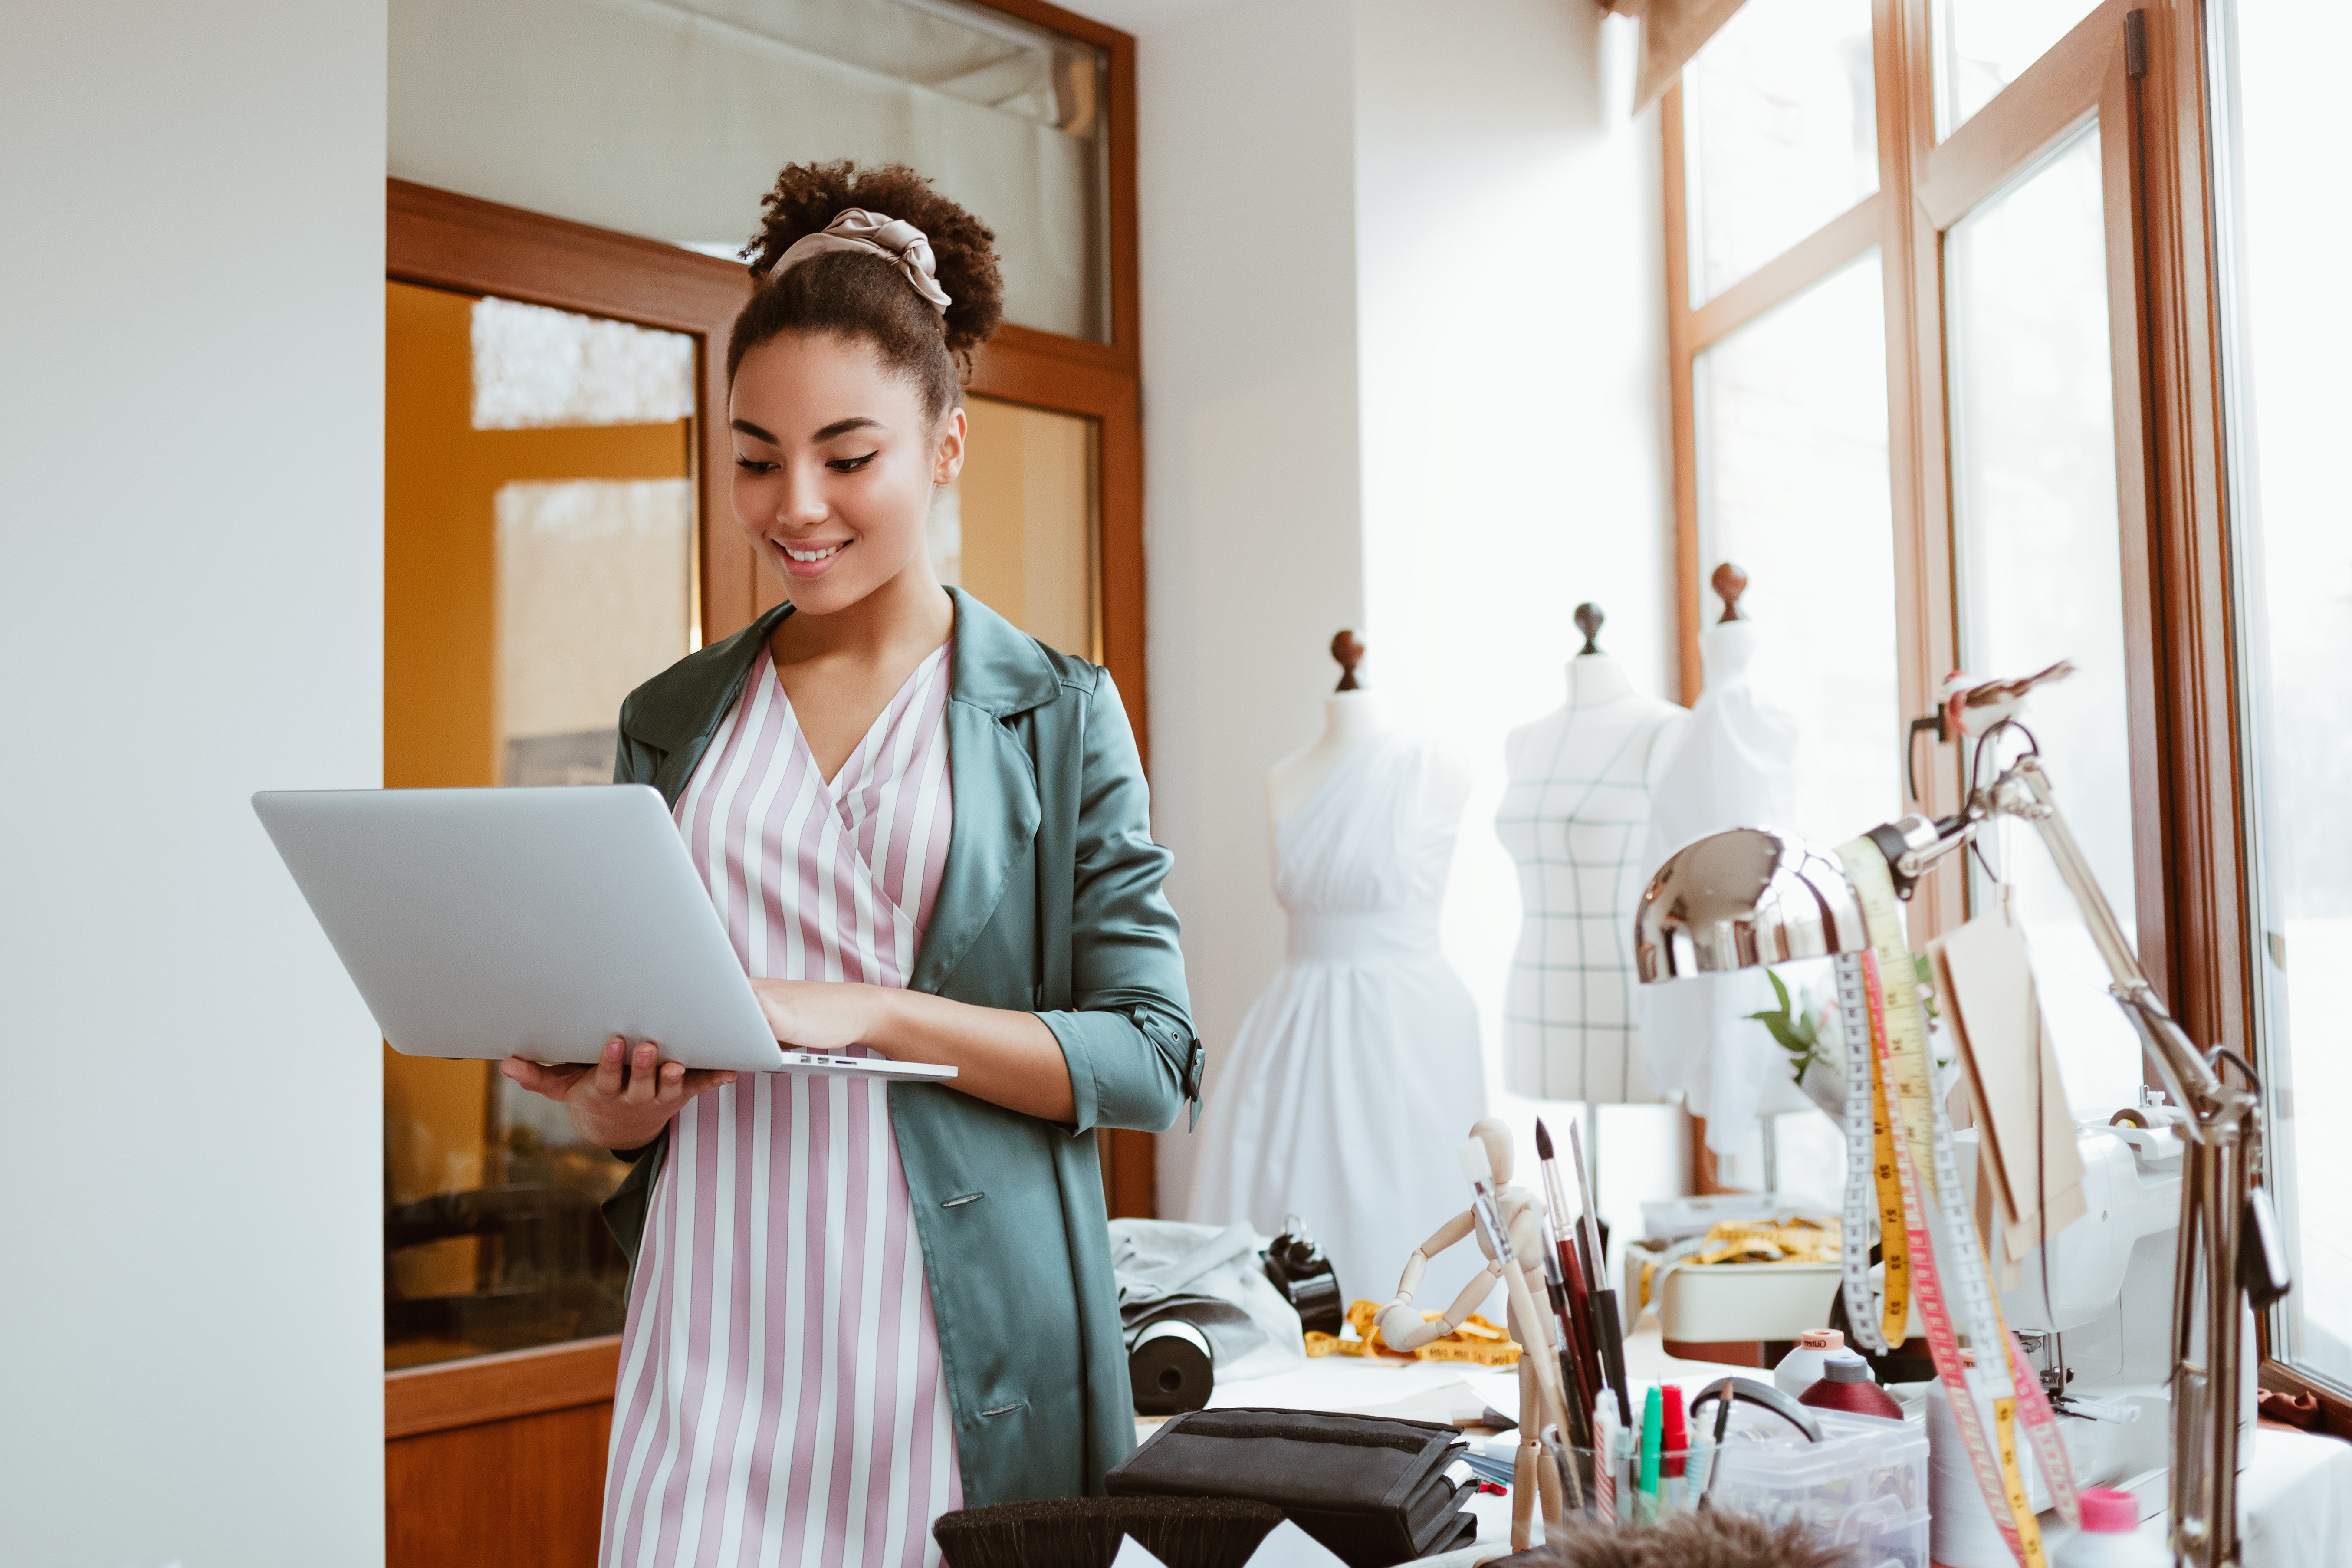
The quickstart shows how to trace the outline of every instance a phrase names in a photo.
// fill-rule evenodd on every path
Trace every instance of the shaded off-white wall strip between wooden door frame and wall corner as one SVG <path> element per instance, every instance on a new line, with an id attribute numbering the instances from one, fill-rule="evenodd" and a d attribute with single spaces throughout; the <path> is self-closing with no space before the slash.
<path id="1" fill-rule="evenodd" d="M 1251 0 L 1136 49 L 1152 816 L 1211 1077 L 1282 961 L 1265 769 L 1364 623 L 1348 33 Z M 1176 1215 L 1190 1140 L 1160 1150 Z"/>

